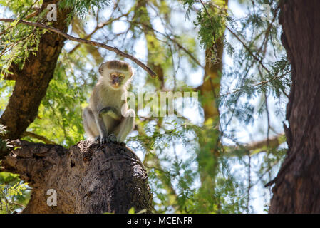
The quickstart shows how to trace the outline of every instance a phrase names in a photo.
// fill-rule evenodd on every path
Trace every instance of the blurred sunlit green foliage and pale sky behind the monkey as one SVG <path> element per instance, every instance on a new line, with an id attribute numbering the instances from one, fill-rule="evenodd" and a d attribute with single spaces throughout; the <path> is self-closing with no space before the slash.
<path id="1" fill-rule="evenodd" d="M 0 16 L 26 19 L 41 4 L 0 0 Z M 262 19 L 268 14 L 262 4 L 269 4 L 270 20 Z M 115 46 L 153 68 L 157 78 L 130 62 L 130 91 L 137 98 L 150 92 L 198 94 L 182 98 L 191 107 L 166 117 L 151 115 L 148 100 L 135 107 L 135 129 L 126 142 L 148 170 L 155 212 L 267 212 L 272 193 L 264 185 L 286 152 L 282 121 L 291 83 L 278 1 L 63 0 L 58 7 L 73 7 L 69 34 Z M 43 11 L 28 20 L 45 16 Z M 12 62 L 22 67 L 36 54 L 44 32 L 0 23 L 1 78 Z M 66 41 L 23 139 L 64 147 L 83 140 L 81 110 L 98 80 L 98 66 L 114 58 L 120 57 Z M 13 88 L 14 81 L 1 79 L 0 115 Z M 153 112 L 160 108 L 159 103 Z M 0 190 L 2 213 L 20 212 L 30 196 L 26 183 L 8 172 L 0 172 Z"/>

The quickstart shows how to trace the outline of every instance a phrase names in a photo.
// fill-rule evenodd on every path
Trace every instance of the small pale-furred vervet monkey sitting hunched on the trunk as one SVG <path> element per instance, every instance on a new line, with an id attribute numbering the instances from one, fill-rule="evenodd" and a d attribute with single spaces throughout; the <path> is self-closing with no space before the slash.
<path id="1" fill-rule="evenodd" d="M 128 109 L 126 95 L 132 68 L 114 60 L 102 63 L 99 73 L 89 105 L 83 110 L 83 127 L 88 138 L 100 143 L 123 142 L 135 121 L 135 111 Z"/>

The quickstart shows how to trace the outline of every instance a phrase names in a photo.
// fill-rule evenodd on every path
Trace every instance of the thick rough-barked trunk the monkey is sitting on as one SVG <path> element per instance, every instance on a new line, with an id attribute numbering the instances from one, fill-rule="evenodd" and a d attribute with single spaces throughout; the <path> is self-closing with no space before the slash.
<path id="1" fill-rule="evenodd" d="M 14 141 L 3 160 L 9 172 L 20 174 L 33 187 L 23 213 L 128 213 L 152 211 L 148 176 L 138 157 L 118 144 L 78 142 L 60 145 Z M 56 191 L 56 206 L 48 206 Z M 47 195 L 47 193 L 50 193 Z"/>

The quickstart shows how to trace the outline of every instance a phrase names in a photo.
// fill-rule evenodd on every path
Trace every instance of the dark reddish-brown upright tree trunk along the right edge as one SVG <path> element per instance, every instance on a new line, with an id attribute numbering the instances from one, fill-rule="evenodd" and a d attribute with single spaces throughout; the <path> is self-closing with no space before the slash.
<path id="1" fill-rule="evenodd" d="M 272 183 L 270 213 L 320 213 L 320 1 L 281 1 L 282 43 L 292 70 L 289 150 Z"/>

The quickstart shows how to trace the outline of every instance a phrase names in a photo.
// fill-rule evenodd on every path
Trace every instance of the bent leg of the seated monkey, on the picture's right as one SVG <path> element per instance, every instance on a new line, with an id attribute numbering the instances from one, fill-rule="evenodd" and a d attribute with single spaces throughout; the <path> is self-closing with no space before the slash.
<path id="1" fill-rule="evenodd" d="M 125 118 L 121 121 L 120 125 L 115 130 L 115 136 L 118 142 L 123 142 L 127 135 L 133 130 L 135 125 L 135 111 L 133 109 L 127 110 Z"/>

